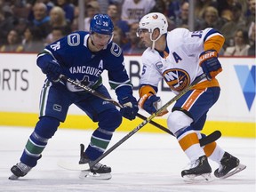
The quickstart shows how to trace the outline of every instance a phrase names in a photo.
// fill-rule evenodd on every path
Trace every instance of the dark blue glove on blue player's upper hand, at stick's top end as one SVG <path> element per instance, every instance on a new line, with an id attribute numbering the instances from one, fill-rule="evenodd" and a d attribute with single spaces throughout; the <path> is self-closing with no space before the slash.
<path id="1" fill-rule="evenodd" d="M 56 83 L 60 81 L 62 70 L 60 64 L 56 60 L 46 62 L 42 67 L 42 71 L 51 82 Z"/>

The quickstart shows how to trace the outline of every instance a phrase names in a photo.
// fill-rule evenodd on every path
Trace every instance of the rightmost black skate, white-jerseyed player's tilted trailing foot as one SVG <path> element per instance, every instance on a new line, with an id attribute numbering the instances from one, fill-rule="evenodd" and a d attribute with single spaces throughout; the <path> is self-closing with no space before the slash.
<path id="1" fill-rule="evenodd" d="M 214 175 L 217 178 L 226 179 L 231 175 L 241 172 L 246 168 L 244 164 L 240 164 L 240 161 L 235 156 L 231 156 L 228 152 L 224 153 L 224 156 L 220 160 L 219 169 L 215 170 Z"/>

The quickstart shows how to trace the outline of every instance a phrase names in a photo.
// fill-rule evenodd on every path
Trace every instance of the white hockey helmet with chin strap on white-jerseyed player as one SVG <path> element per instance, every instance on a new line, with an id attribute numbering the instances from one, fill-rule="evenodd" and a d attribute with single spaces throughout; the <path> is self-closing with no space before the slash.
<path id="1" fill-rule="evenodd" d="M 155 40 L 152 38 L 152 33 L 153 31 L 159 28 L 160 35 L 157 36 Z M 142 29 L 148 29 L 148 32 L 150 33 L 150 40 L 153 41 L 152 49 L 155 47 L 155 42 L 164 34 L 167 33 L 167 28 L 168 28 L 168 22 L 166 20 L 166 17 L 164 14 L 160 12 L 150 12 L 144 17 L 141 18 L 139 22 L 139 28 L 137 31 L 137 36 L 140 36 L 141 30 Z"/>

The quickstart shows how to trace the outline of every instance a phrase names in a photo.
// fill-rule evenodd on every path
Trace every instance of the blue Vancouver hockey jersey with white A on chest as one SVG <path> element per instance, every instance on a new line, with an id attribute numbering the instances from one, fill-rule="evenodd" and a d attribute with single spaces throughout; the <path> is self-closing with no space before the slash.
<path id="1" fill-rule="evenodd" d="M 37 56 L 40 62 L 57 60 L 63 75 L 75 79 L 92 88 L 101 84 L 101 73 L 108 71 L 111 88 L 116 90 L 118 100 L 132 93 L 132 84 L 124 68 L 124 54 L 121 48 L 110 42 L 100 52 L 91 52 L 87 46 L 90 34 L 76 31 L 45 47 Z M 40 65 L 38 65 L 40 67 Z M 83 89 L 65 83 L 70 92 L 82 92 Z"/>

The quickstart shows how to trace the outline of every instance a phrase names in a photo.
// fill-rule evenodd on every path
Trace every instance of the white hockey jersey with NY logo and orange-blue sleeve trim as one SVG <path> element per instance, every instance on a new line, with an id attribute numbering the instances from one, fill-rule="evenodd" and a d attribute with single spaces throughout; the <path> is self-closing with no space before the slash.
<path id="1" fill-rule="evenodd" d="M 211 44 L 214 44 L 212 38 L 214 40 L 216 38 L 223 39 L 220 42 L 224 42 L 224 37 L 213 28 L 194 32 L 190 32 L 186 28 L 175 28 L 168 32 L 164 52 L 157 52 L 151 48 L 143 52 L 140 86 L 157 87 L 161 79 L 164 78 L 172 92 L 177 94 L 182 91 L 196 79 L 196 76 L 203 73 L 199 66 L 199 55 L 207 50 L 204 47 L 206 41 L 210 40 Z M 207 47 L 209 48 L 209 45 Z M 219 51 L 217 50 L 217 52 Z M 203 81 L 205 81 L 204 88 L 219 86 L 215 78 L 211 82 L 206 79 Z"/>

